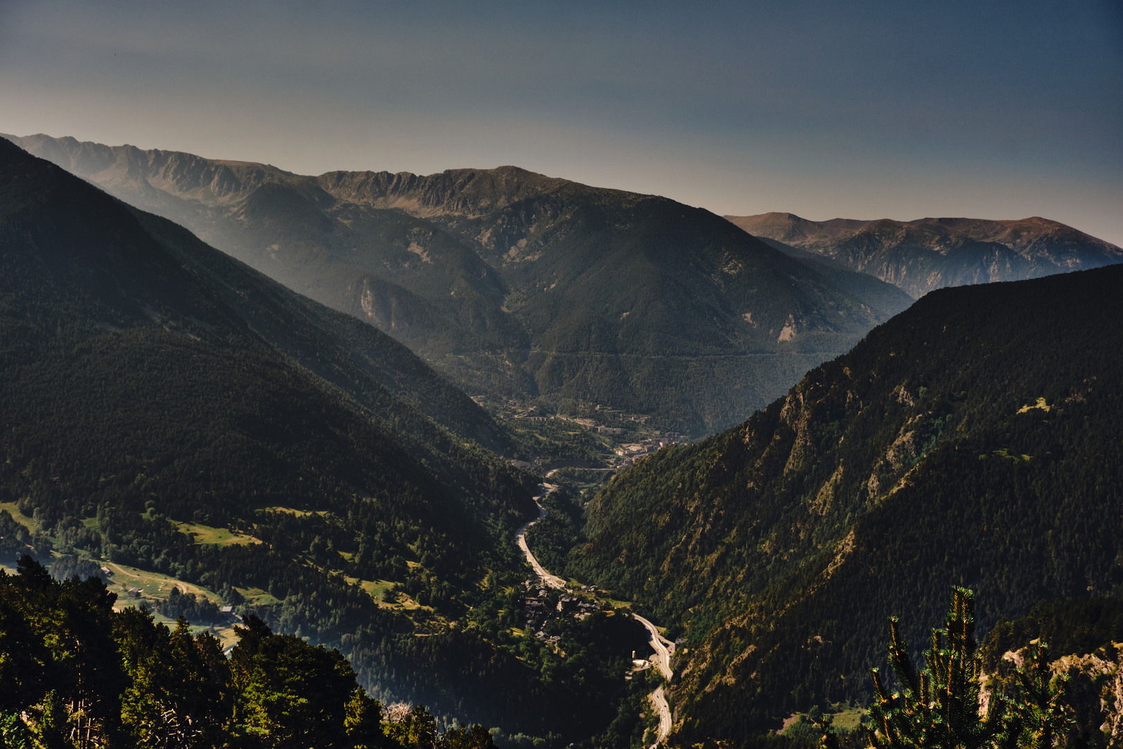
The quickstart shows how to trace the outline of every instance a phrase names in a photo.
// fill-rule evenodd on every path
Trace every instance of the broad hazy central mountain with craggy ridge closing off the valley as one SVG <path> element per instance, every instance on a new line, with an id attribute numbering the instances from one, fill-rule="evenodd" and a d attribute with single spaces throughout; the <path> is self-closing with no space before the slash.
<path id="1" fill-rule="evenodd" d="M 371 322 L 469 392 L 563 410 L 727 427 L 910 302 L 707 211 L 515 167 L 312 177 L 11 139 Z"/>

